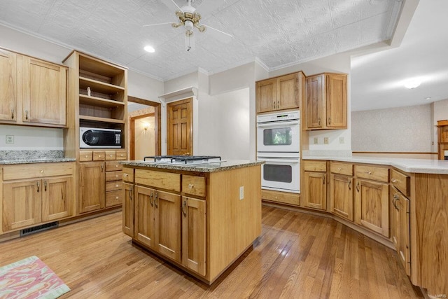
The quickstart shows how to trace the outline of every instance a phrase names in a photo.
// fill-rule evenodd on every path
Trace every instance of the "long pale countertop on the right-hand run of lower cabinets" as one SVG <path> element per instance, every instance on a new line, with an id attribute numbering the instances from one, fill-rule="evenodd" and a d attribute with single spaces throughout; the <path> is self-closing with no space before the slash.
<path id="1" fill-rule="evenodd" d="M 302 160 L 332 160 L 341 162 L 368 163 L 390 165 L 403 172 L 418 174 L 448 174 L 448 160 L 405 159 L 405 158 L 377 158 L 367 156 L 304 156 Z"/>

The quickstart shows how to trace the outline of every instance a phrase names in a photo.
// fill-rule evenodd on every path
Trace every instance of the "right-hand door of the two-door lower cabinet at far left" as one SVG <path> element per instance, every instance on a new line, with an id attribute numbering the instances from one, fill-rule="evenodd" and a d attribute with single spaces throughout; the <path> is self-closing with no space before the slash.
<path id="1" fill-rule="evenodd" d="M 73 176 L 43 179 L 42 221 L 73 216 Z"/>

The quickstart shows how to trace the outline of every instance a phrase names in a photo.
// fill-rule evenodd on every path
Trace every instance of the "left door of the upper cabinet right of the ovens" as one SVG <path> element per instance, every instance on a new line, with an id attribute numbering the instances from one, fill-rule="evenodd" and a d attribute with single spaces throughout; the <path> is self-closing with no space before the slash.
<path id="1" fill-rule="evenodd" d="M 307 78 L 307 113 L 306 127 L 323 128 L 324 117 L 324 97 L 323 95 L 323 75 Z"/>

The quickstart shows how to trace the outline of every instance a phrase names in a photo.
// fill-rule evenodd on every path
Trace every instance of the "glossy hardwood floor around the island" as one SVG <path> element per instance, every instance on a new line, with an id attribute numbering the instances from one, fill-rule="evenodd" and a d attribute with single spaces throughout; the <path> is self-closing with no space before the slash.
<path id="1" fill-rule="evenodd" d="M 395 252 L 329 218 L 262 207 L 262 235 L 207 286 L 132 245 L 121 212 L 0 243 L 0 266 L 38 256 L 61 298 L 423 298 Z"/>

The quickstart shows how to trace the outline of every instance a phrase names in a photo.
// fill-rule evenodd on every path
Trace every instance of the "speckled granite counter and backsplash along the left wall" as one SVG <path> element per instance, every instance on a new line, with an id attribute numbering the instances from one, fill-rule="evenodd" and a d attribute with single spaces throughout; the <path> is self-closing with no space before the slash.
<path id="1" fill-rule="evenodd" d="M 0 151 L 0 165 L 73 161 L 64 158 L 64 151 Z"/>

